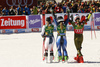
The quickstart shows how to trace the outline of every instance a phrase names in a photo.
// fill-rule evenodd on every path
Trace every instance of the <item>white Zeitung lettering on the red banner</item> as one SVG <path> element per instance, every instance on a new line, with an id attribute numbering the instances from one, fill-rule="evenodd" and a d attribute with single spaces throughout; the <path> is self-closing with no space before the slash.
<path id="1" fill-rule="evenodd" d="M 25 26 L 25 20 L 12 20 L 8 18 L 8 20 L 1 19 L 1 26 Z"/>

